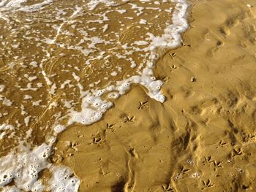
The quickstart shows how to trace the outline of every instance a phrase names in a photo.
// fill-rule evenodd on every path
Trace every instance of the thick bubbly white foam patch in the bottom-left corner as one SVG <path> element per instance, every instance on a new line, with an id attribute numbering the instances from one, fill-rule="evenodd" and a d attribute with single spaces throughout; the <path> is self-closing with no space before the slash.
<path id="1" fill-rule="evenodd" d="M 33 150 L 20 146 L 18 152 L 11 152 L 0 158 L 0 188 L 1 191 L 44 191 L 45 186 L 39 180 L 39 172 L 49 169 L 51 177 L 47 190 L 78 191 L 79 180 L 66 166 L 56 166 L 48 163 L 52 153 L 52 145 L 43 143 Z M 10 185 L 13 182 L 14 185 Z"/>

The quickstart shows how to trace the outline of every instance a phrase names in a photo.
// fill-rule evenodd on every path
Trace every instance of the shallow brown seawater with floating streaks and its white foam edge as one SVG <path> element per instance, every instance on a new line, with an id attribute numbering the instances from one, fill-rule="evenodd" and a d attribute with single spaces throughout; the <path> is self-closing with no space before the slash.
<path id="1" fill-rule="evenodd" d="M 100 120 L 132 84 L 164 102 L 153 69 L 161 53 L 181 45 L 187 7 L 185 0 L 0 1 L 1 190 L 78 191 L 71 169 L 49 161 L 58 134 Z M 39 174 L 45 170 L 48 179 Z"/>

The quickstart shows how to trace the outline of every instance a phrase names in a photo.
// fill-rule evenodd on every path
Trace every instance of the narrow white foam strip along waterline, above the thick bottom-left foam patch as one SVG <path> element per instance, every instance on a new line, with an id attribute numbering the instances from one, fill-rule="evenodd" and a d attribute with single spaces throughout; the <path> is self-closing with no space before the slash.
<path id="1" fill-rule="evenodd" d="M 155 80 L 153 76 L 152 67 L 157 61 L 156 51 L 161 48 L 175 48 L 181 45 L 181 33 L 187 30 L 187 8 L 188 4 L 185 0 L 172 0 L 176 3 L 176 7 L 173 11 L 173 23 L 165 28 L 165 34 L 161 37 L 154 37 L 153 34 L 148 34 L 151 39 L 148 50 L 150 51 L 150 60 L 147 66 L 143 69 L 139 75 L 135 75 L 127 78 L 126 80 L 116 82 L 116 86 L 110 86 L 102 90 L 85 91 L 82 99 L 80 112 L 75 110 L 69 111 L 69 125 L 72 123 L 81 123 L 83 125 L 89 125 L 102 118 L 104 112 L 106 112 L 113 103 L 110 101 L 103 101 L 101 95 L 106 92 L 117 91 L 118 96 L 126 93 L 132 83 L 143 85 L 147 88 L 148 96 L 160 102 L 165 101 L 165 96 L 161 93 L 161 87 L 163 82 L 161 80 Z M 117 97 L 117 96 L 116 96 Z"/>

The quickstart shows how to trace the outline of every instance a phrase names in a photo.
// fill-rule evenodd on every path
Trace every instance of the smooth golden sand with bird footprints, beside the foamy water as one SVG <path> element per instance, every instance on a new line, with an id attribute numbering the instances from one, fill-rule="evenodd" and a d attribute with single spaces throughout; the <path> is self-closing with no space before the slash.
<path id="1" fill-rule="evenodd" d="M 135 86 L 60 135 L 52 161 L 80 191 L 256 190 L 256 1 L 194 0 L 189 14 L 184 46 L 155 70 L 164 104 Z"/>

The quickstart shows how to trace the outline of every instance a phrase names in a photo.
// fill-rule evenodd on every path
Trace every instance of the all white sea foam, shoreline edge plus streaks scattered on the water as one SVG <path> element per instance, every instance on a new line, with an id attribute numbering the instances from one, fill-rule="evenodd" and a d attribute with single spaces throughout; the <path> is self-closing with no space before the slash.
<path id="1" fill-rule="evenodd" d="M 10 18 L 7 17 L 8 14 L 12 14 L 12 12 L 38 12 L 41 9 L 47 9 L 47 6 L 50 6 L 54 3 L 52 0 L 45 0 L 38 4 L 30 4 L 26 5 L 27 0 L 4 0 L 0 2 L 0 18 L 9 21 Z M 93 12 L 94 9 L 97 9 L 99 6 L 116 6 L 117 1 L 110 0 L 91 0 L 86 5 L 89 11 Z M 128 0 L 122 0 L 122 2 L 129 2 Z M 140 2 L 151 2 L 150 0 L 140 0 Z M 160 4 L 159 1 L 152 1 L 154 4 Z M 163 0 L 162 2 L 169 2 L 167 0 Z M 50 155 L 53 154 L 53 144 L 56 142 L 56 137 L 61 131 L 64 131 L 67 126 L 72 125 L 73 123 L 81 123 L 84 125 L 89 125 L 91 123 L 96 122 L 102 118 L 102 115 L 113 106 L 113 103 L 109 99 L 116 99 L 118 96 L 121 96 L 124 93 L 127 93 L 130 86 L 132 84 L 142 85 L 147 89 L 147 94 L 152 99 L 156 99 L 157 101 L 164 102 L 165 96 L 161 93 L 161 87 L 164 82 L 161 80 L 157 80 L 154 77 L 153 68 L 157 63 L 159 58 L 159 50 L 165 48 L 175 48 L 181 45 L 182 39 L 181 34 L 186 31 L 188 28 L 187 23 L 187 1 L 185 0 L 172 0 L 170 1 L 175 4 L 175 7 L 169 7 L 169 9 L 165 9 L 165 12 L 172 13 L 172 22 L 170 22 L 165 29 L 163 30 L 163 34 L 154 35 L 150 31 L 146 34 L 146 38 L 142 40 L 138 40 L 133 42 L 133 45 L 136 47 L 131 47 L 131 45 L 123 44 L 121 47 L 124 49 L 124 53 L 126 55 L 131 55 L 133 52 L 143 52 L 146 53 L 147 60 L 145 61 L 145 65 L 136 64 L 136 62 L 130 58 L 129 66 L 131 69 L 136 69 L 137 73 L 130 75 L 129 77 L 125 77 L 123 80 L 117 80 L 109 85 L 106 85 L 103 88 L 97 88 L 96 85 L 100 82 L 91 82 L 91 89 L 85 90 L 84 85 L 80 82 L 80 77 L 72 73 L 73 80 L 76 82 L 80 90 L 80 109 L 75 110 L 72 107 L 71 102 L 66 102 L 65 106 L 68 108 L 67 114 L 64 116 L 60 116 L 56 114 L 56 117 L 59 117 L 59 121 L 64 118 L 68 118 L 67 124 L 62 125 L 57 121 L 53 126 L 53 136 L 48 139 L 48 141 L 43 142 L 40 145 L 23 145 L 24 142 L 20 139 L 20 145 L 15 147 L 9 154 L 2 156 L 0 158 L 0 188 L 1 191 L 78 191 L 80 181 L 78 177 L 72 173 L 71 169 L 65 166 L 56 166 L 55 164 L 51 164 L 48 161 Z M 136 9 L 136 15 L 140 17 L 143 15 L 144 7 L 139 7 L 136 4 L 132 4 L 130 2 L 131 9 Z M 45 8 L 46 7 L 46 8 Z M 155 9 L 155 7 L 151 8 Z M 53 38 L 44 38 L 40 39 L 40 45 L 45 43 L 46 45 L 55 45 L 57 47 L 61 47 L 67 50 L 78 51 L 83 54 L 83 56 L 89 56 L 88 60 L 86 60 L 86 65 L 90 66 L 91 62 L 94 61 L 94 57 L 90 58 L 92 53 L 95 53 L 97 50 L 97 45 L 104 43 L 105 45 L 110 45 L 111 41 L 106 41 L 101 37 L 88 37 L 88 31 L 80 29 L 80 33 L 83 34 L 83 39 L 78 43 L 78 45 L 66 45 L 64 42 L 58 41 L 59 34 L 65 34 L 72 38 L 74 34 L 69 31 L 64 31 L 63 26 L 69 24 L 72 26 L 73 20 L 83 12 L 83 8 L 75 7 L 74 12 L 69 16 L 69 19 L 66 20 L 61 18 L 61 15 L 65 15 L 66 12 L 64 10 L 59 9 L 59 13 L 56 18 L 59 20 L 63 20 L 60 26 L 53 26 L 56 29 L 57 35 Z M 120 14 L 125 14 L 127 10 L 120 9 L 118 10 Z M 89 23 L 103 23 L 102 31 L 106 33 L 110 26 L 105 24 L 105 21 L 108 21 L 108 17 L 106 14 L 100 15 L 99 20 L 89 21 Z M 126 18 L 127 20 L 132 20 L 132 18 Z M 140 19 L 139 22 L 141 25 L 146 25 L 148 23 L 145 19 Z M 28 27 L 29 28 L 29 27 Z M 97 29 L 97 28 L 96 28 Z M 96 30 L 95 28 L 90 28 L 91 31 Z M 27 33 L 29 34 L 29 32 Z M 88 47 L 84 47 L 84 42 L 90 42 Z M 15 48 L 17 46 L 14 46 Z M 130 50 L 129 50 L 130 49 Z M 50 58 L 50 53 L 48 50 L 45 50 L 45 55 L 47 58 Z M 64 54 L 64 53 L 63 53 Z M 97 55 L 97 58 L 102 60 L 108 60 L 109 55 L 106 55 L 106 51 L 100 51 Z M 127 58 L 126 55 L 121 55 L 116 53 L 118 58 Z M 67 86 L 72 87 L 70 83 L 72 80 L 66 80 L 61 84 L 61 87 L 58 88 L 56 83 L 50 80 L 50 75 L 45 71 L 43 67 L 44 61 L 47 61 L 47 58 L 38 64 L 37 61 L 31 61 L 31 67 L 37 68 L 40 67 L 42 69 L 41 74 L 43 78 L 47 82 L 46 84 L 50 87 L 49 93 L 52 96 L 55 96 L 56 91 L 60 89 L 64 89 Z M 22 65 L 21 65 L 22 66 Z M 93 66 L 92 66 L 93 67 Z M 118 72 L 121 73 L 121 69 L 115 69 L 115 71 L 111 72 L 110 76 L 116 77 L 118 76 Z M 37 80 L 36 77 L 31 79 L 32 77 L 27 76 L 29 80 L 34 81 Z M 105 77 L 109 78 L 109 77 Z M 27 88 L 23 88 L 23 91 L 37 91 L 42 87 L 41 84 L 37 84 L 38 87 L 34 88 L 30 84 L 27 85 Z M 39 86 L 40 85 L 40 86 Z M 0 92 L 4 92 L 6 89 L 5 85 L 0 85 Z M 103 99 L 102 96 L 107 95 Z M 32 99 L 32 96 L 26 96 L 26 99 Z M 12 101 L 8 100 L 5 96 L 0 96 L 0 100 L 2 100 L 3 104 L 7 104 L 7 106 L 12 107 Z M 8 102 L 7 102 L 8 101 Z M 33 106 L 39 106 L 42 100 L 37 100 L 33 102 Z M 49 104 L 50 107 L 56 107 L 56 102 L 52 102 Z M 25 107 L 21 105 L 23 115 L 27 115 L 25 118 L 26 126 L 29 127 L 30 116 L 26 114 Z M 51 109 L 51 108 L 50 108 Z M 29 118 L 28 118 L 29 117 Z M 20 126 L 20 124 L 18 124 Z M 0 139 L 7 137 L 8 131 L 13 131 L 18 127 L 3 123 L 0 126 Z M 31 134 L 29 134 L 31 136 Z M 52 177 L 45 185 L 39 177 L 39 173 L 42 170 L 48 169 L 52 173 Z M 13 184 L 13 185 L 10 185 Z"/>

